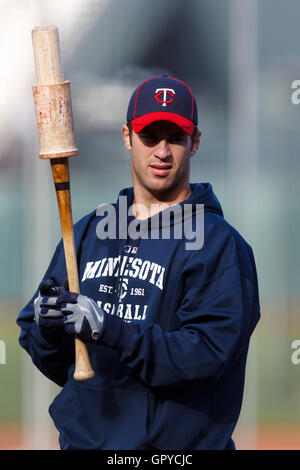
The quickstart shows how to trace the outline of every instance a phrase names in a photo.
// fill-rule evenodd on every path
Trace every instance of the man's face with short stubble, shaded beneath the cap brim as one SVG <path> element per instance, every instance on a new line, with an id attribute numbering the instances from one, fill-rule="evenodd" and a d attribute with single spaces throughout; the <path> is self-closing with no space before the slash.
<path id="1" fill-rule="evenodd" d="M 133 185 L 159 197 L 168 197 L 189 183 L 190 159 L 199 138 L 192 139 L 169 121 L 156 121 L 139 134 L 132 131 L 131 144 L 123 127 L 125 146 L 131 151 Z"/>

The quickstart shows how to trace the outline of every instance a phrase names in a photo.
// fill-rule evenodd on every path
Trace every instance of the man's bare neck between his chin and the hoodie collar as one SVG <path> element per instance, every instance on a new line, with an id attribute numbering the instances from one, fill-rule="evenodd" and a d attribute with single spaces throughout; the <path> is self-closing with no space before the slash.
<path id="1" fill-rule="evenodd" d="M 134 187 L 133 215 L 137 219 L 147 219 L 170 206 L 186 201 L 191 192 L 192 190 L 189 184 L 181 191 L 177 190 L 167 194 L 155 194 Z"/>

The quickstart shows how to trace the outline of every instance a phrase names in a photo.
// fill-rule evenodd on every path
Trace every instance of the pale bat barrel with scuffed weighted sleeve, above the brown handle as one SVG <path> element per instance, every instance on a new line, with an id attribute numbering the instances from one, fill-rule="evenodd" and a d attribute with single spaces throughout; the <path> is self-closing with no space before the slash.
<path id="1" fill-rule="evenodd" d="M 33 98 L 40 141 L 39 157 L 77 155 L 70 82 L 63 81 L 57 27 L 35 27 L 32 44 L 37 76 Z"/>

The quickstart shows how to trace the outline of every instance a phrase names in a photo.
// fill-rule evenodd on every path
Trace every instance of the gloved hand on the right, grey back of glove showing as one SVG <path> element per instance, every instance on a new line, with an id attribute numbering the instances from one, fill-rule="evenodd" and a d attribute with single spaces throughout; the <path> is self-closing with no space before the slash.
<path id="1" fill-rule="evenodd" d="M 104 312 L 93 299 L 65 291 L 57 299 L 57 305 L 64 315 L 66 333 L 76 334 L 86 343 L 97 342 L 103 326 Z"/>

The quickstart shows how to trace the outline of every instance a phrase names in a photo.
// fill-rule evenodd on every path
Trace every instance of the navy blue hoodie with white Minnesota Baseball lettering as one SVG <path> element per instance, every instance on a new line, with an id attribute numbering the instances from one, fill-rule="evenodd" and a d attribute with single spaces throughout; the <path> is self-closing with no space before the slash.
<path id="1" fill-rule="evenodd" d="M 249 340 L 260 317 L 255 261 L 211 185 L 191 188 L 180 206 L 191 204 L 195 221 L 204 204 L 204 244 L 196 250 L 175 237 L 100 240 L 104 215 L 96 211 L 75 224 L 81 294 L 107 313 L 100 343 L 88 344 L 93 379 L 73 379 L 73 337 L 42 336 L 34 322 L 38 292 L 18 317 L 21 346 L 63 387 L 49 408 L 62 449 L 235 447 Z M 120 195 L 129 207 L 133 189 Z M 160 233 L 161 219 L 158 226 Z M 62 242 L 46 278 L 66 279 Z"/>

